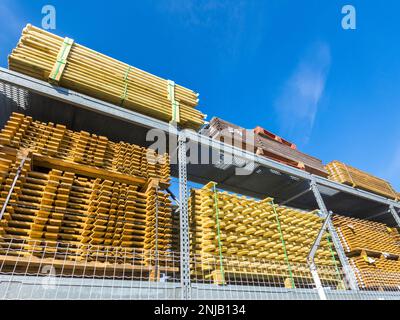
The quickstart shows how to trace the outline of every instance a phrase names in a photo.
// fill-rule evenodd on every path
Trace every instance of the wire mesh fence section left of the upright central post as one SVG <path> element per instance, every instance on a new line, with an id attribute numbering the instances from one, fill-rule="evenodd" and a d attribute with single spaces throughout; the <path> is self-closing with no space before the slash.
<path id="1" fill-rule="evenodd" d="M 179 264 L 173 252 L 3 238 L 0 299 L 178 299 Z"/>

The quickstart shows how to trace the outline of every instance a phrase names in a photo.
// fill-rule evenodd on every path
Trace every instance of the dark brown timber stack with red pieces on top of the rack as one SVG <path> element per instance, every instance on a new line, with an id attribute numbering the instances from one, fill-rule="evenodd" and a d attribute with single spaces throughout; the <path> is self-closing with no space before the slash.
<path id="1" fill-rule="evenodd" d="M 260 127 L 246 130 L 225 120 L 213 118 L 201 130 L 201 134 L 312 174 L 328 176 L 321 160 L 300 152 L 293 143 Z"/>

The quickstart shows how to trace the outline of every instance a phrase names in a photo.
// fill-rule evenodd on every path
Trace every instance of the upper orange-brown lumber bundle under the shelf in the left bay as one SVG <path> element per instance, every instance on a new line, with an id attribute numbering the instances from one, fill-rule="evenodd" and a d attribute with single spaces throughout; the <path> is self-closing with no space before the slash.
<path id="1" fill-rule="evenodd" d="M 88 132 L 73 132 L 65 126 L 41 123 L 13 113 L 0 133 L 0 144 L 30 149 L 35 154 L 83 164 L 110 172 L 170 181 L 169 156 Z"/>

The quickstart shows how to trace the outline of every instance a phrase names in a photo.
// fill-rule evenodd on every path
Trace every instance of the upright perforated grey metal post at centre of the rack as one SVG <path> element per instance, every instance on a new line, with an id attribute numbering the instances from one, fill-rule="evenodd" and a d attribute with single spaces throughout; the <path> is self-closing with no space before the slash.
<path id="1" fill-rule="evenodd" d="M 190 243 L 189 243 L 189 213 L 187 190 L 186 136 L 180 133 L 178 140 L 179 166 L 179 215 L 180 215 L 180 249 L 181 249 L 181 285 L 182 299 L 191 299 L 190 285 Z"/>

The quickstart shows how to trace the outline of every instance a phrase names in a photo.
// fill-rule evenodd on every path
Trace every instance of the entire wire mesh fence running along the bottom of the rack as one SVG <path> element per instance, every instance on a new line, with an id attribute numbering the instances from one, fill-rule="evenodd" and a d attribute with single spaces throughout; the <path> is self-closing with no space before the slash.
<path id="1" fill-rule="evenodd" d="M 180 254 L 105 246 L 0 239 L 0 299 L 181 299 Z M 307 264 L 192 255 L 191 297 L 319 300 Z M 400 299 L 400 274 L 363 271 L 350 290 L 339 266 L 318 266 L 329 300 Z M 362 275 L 362 276 L 360 276 Z M 389 282 L 388 282 L 389 281 Z"/>

